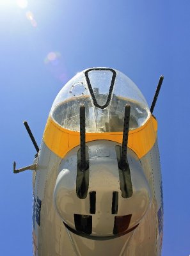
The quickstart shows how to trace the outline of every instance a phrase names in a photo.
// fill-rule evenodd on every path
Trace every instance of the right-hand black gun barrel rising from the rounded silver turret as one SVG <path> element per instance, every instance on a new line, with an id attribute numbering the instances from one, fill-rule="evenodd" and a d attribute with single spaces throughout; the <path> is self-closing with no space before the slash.
<path id="1" fill-rule="evenodd" d="M 125 115 L 124 115 L 124 125 L 123 125 L 123 142 L 122 142 L 122 157 L 119 166 L 122 170 L 125 169 L 127 163 L 127 143 L 129 134 L 129 119 L 130 119 L 131 106 L 126 104 Z"/>

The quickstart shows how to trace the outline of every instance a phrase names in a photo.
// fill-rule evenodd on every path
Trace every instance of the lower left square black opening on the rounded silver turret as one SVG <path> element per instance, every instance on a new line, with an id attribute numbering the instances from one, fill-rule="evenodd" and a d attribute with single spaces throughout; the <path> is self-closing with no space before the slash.
<path id="1" fill-rule="evenodd" d="M 74 214 L 75 228 L 79 232 L 91 234 L 92 217 L 90 215 Z"/>

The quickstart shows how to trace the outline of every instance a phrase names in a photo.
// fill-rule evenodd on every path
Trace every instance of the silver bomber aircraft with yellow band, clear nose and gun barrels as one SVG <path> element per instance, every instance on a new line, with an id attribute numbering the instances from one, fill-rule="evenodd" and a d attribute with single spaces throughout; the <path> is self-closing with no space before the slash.
<path id="1" fill-rule="evenodd" d="M 76 74 L 52 104 L 33 170 L 34 256 L 159 256 L 162 179 L 157 120 L 129 77 Z"/>

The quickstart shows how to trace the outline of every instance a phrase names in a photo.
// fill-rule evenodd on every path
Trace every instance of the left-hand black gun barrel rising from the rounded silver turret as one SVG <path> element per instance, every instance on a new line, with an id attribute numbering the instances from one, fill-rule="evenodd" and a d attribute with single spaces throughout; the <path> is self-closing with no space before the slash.
<path id="1" fill-rule="evenodd" d="M 85 122 L 85 106 L 80 106 L 80 139 L 81 139 L 81 164 L 80 169 L 85 171 L 88 169 L 86 163 L 86 122 Z"/>

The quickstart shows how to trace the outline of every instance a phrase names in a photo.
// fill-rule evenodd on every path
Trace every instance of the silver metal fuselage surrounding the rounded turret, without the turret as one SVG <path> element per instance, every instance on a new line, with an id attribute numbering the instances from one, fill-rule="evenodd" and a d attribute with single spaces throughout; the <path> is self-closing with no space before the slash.
<path id="1" fill-rule="evenodd" d="M 107 144 L 104 143 L 104 145 L 107 150 Z M 99 148 L 98 145 L 97 148 Z M 66 163 L 68 167 L 73 158 L 74 156 L 68 156 Z M 95 161 L 95 158 L 99 160 L 99 156 L 91 156 L 90 164 Z M 106 241 L 96 241 L 77 236 L 70 232 L 59 218 L 52 198 L 56 179 L 60 172 L 59 166 L 63 160 L 49 150 L 42 140 L 37 159 L 37 169 L 33 176 L 33 253 L 35 256 L 161 255 L 163 205 L 157 141 L 151 150 L 139 159 L 139 164 L 142 166 L 143 175 L 148 181 L 152 195 L 148 211 L 134 231 Z M 111 205 L 107 207 L 111 209 Z"/>

